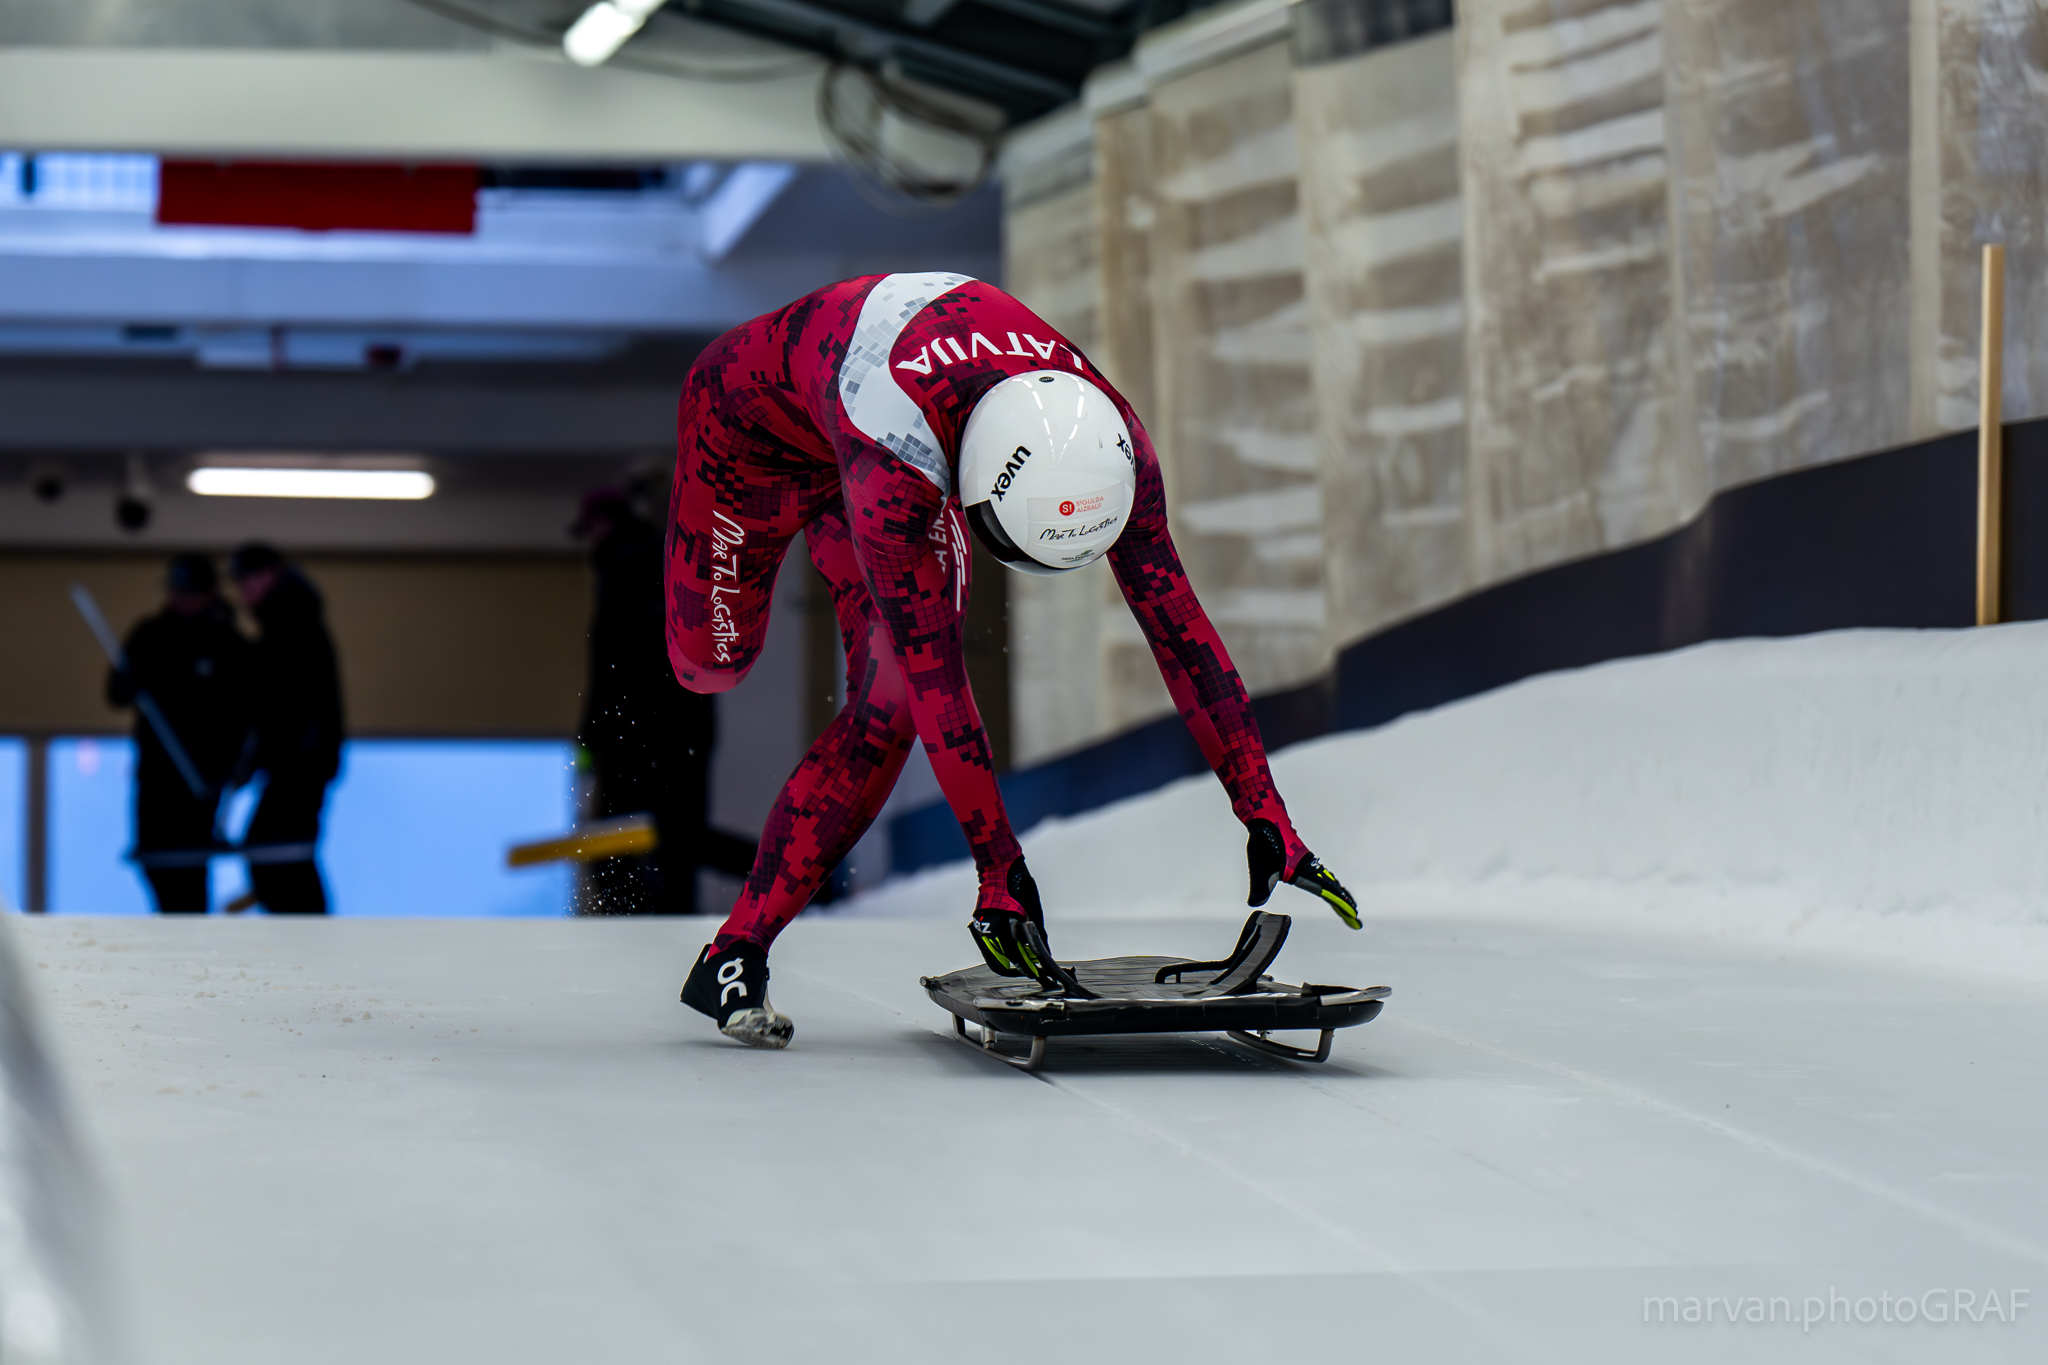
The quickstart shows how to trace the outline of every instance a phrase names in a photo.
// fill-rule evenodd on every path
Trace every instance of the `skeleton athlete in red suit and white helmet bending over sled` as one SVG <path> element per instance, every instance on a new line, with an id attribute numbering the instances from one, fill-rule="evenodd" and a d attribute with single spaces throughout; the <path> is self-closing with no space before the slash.
<path id="1" fill-rule="evenodd" d="M 1251 702 L 1165 528 L 1130 405 L 1053 327 L 958 274 L 844 280 L 727 332 L 682 393 L 668 657 L 692 692 L 748 675 L 801 530 L 846 643 L 846 708 L 782 786 L 739 902 L 682 1001 L 782 1048 L 768 945 L 860 839 L 922 739 L 975 857 L 989 968 L 1057 984 L 1038 888 L 1004 812 L 961 626 L 969 528 L 1024 573 L 1108 555 L 1174 704 L 1249 831 L 1251 905 L 1290 882 L 1358 927 L 1288 823 Z"/>

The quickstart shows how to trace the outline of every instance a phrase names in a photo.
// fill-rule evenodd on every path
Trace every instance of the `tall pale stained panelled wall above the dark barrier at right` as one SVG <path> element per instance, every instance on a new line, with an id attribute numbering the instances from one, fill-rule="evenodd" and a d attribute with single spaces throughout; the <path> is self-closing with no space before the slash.
<path id="1" fill-rule="evenodd" d="M 1423 10 L 1249 0 L 1092 84 L 1098 358 L 1255 690 L 1974 426 L 1987 241 L 2005 411 L 2048 411 L 2042 0 L 1460 0 L 1399 41 Z M 1143 673 L 1098 737 L 1163 710 Z"/>

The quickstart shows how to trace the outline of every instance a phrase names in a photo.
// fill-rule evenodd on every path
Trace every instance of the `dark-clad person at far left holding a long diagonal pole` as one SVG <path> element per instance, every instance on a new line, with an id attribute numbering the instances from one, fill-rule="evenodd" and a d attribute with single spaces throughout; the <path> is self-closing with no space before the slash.
<path id="1" fill-rule="evenodd" d="M 162 737 L 135 712 L 135 857 L 164 915 L 207 913 L 207 855 L 219 847 L 221 792 L 248 739 L 250 643 L 221 598 L 207 555 L 178 555 L 164 575 L 164 610 L 127 639 L 127 667 L 109 669 L 106 700 L 147 692 L 205 782 L 195 794 Z"/>

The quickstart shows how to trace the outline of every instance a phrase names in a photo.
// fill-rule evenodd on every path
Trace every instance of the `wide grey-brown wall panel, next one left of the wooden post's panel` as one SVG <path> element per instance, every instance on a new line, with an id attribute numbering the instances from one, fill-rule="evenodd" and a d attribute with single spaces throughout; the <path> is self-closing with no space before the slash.
<path id="1" fill-rule="evenodd" d="M 1688 0 L 1665 45 L 1710 485 L 1905 442 L 1907 0 Z"/>

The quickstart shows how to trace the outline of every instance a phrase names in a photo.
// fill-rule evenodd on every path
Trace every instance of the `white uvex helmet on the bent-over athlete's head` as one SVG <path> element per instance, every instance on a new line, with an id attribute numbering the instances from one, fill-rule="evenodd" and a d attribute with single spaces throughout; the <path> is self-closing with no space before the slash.
<path id="1" fill-rule="evenodd" d="M 967 415 L 961 505 L 981 544 L 1018 573 L 1065 573 L 1108 555 L 1137 487 L 1130 428 L 1079 375 L 1012 375 Z"/>

